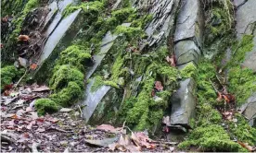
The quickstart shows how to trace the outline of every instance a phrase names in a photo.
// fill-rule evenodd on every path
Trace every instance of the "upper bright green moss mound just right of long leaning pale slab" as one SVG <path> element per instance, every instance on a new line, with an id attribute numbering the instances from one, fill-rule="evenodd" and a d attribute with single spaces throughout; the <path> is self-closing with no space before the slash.
<path id="1" fill-rule="evenodd" d="M 72 65 L 84 72 L 83 66 L 86 65 L 90 59 L 91 54 L 87 48 L 79 45 L 71 45 L 60 53 L 58 65 Z"/>

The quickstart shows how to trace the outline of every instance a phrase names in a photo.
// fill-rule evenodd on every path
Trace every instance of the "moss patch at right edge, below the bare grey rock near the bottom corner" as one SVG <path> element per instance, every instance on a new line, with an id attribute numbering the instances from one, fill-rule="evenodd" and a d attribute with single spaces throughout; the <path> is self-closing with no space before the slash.
<path id="1" fill-rule="evenodd" d="M 248 121 L 239 113 L 236 113 L 237 123 L 229 122 L 229 132 L 234 138 L 250 146 L 256 144 L 256 129 L 248 124 Z"/>

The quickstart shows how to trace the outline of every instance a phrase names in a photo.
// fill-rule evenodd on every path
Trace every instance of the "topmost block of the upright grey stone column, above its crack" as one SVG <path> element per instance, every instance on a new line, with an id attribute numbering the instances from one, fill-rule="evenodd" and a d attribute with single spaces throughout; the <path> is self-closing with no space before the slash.
<path id="1" fill-rule="evenodd" d="M 199 0 L 185 0 L 178 15 L 174 41 L 195 38 L 202 44 L 203 15 Z"/>

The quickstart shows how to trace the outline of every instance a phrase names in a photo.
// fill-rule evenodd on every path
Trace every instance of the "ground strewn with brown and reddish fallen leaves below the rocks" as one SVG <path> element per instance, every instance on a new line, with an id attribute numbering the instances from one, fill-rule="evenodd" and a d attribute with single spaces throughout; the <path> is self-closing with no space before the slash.
<path id="1" fill-rule="evenodd" d="M 176 143 L 154 141 L 147 132 L 132 132 L 125 124 L 119 128 L 109 124 L 92 127 L 85 124 L 80 108 L 75 106 L 38 116 L 34 101 L 46 98 L 50 89 L 36 84 L 12 88 L 1 97 L 2 152 L 155 152 L 176 148 Z"/>

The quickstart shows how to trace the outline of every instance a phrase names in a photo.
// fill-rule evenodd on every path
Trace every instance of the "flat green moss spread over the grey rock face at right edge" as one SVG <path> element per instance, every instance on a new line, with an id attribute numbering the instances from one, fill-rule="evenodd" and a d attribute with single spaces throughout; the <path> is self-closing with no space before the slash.
<path id="1" fill-rule="evenodd" d="M 244 35 L 240 42 L 234 44 L 234 55 L 227 65 L 229 69 L 228 88 L 231 93 L 236 93 L 238 106 L 246 102 L 250 95 L 256 91 L 255 74 L 252 70 L 240 66 L 245 59 L 246 53 L 253 49 L 253 38 L 253 35 Z"/>

